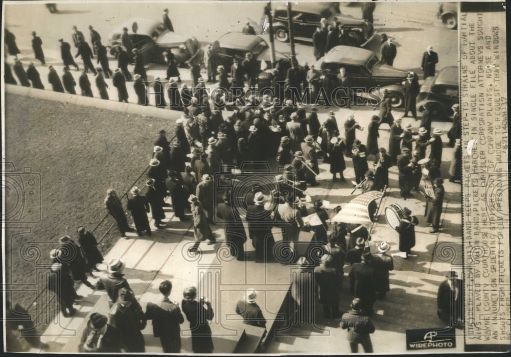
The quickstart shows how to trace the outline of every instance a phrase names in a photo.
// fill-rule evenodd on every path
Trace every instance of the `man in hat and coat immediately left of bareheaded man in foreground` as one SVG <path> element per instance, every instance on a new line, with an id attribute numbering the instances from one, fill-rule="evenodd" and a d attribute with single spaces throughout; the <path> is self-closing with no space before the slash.
<path id="1" fill-rule="evenodd" d="M 127 352 L 146 351 L 146 343 L 141 331 L 146 328 L 147 319 L 133 291 L 128 288 L 119 289 L 117 302 L 110 310 L 108 321 L 121 331 L 121 338 Z"/>

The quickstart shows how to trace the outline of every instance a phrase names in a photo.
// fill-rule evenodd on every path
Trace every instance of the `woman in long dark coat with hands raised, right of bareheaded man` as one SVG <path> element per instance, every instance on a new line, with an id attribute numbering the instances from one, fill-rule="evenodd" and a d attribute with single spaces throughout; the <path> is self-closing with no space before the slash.
<path id="1" fill-rule="evenodd" d="M 196 297 L 197 288 L 189 287 L 184 289 L 181 301 L 181 310 L 190 322 L 192 350 L 193 353 L 213 353 L 211 328 L 207 323 L 207 321 L 213 320 L 213 308 L 210 301 L 203 297 L 197 301 Z"/>

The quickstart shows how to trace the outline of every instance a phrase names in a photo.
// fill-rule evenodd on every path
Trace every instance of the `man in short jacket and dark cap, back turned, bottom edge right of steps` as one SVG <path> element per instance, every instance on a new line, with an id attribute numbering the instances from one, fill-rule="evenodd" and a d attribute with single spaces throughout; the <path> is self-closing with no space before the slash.
<path id="1" fill-rule="evenodd" d="M 361 344 L 365 353 L 373 353 L 373 344 L 370 334 L 376 330 L 375 325 L 364 316 L 363 302 L 359 298 L 353 299 L 351 303 L 352 310 L 344 313 L 341 318 L 342 329 L 347 329 L 347 339 L 350 342 L 352 353 L 358 353 L 358 345 Z"/>

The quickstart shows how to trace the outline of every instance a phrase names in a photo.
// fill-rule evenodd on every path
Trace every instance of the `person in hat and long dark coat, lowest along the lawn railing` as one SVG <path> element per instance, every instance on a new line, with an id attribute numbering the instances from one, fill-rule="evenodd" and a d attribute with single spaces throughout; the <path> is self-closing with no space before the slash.
<path id="1" fill-rule="evenodd" d="M 76 309 L 73 307 L 76 294 L 75 283 L 71 276 L 62 271 L 61 263 L 52 265 L 52 273 L 48 275 L 47 288 L 55 293 L 59 302 L 60 312 L 64 317 L 73 316 Z"/>

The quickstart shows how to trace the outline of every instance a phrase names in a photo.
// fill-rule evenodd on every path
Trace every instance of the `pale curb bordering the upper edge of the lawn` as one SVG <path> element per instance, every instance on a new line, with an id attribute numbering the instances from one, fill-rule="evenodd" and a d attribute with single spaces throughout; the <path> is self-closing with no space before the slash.
<path id="1" fill-rule="evenodd" d="M 161 109 L 156 107 L 145 107 L 138 104 L 115 102 L 113 100 L 104 100 L 100 98 L 90 98 L 79 96 L 77 94 L 60 93 L 47 89 L 36 89 L 32 87 L 23 87 L 15 84 L 6 84 L 5 92 L 10 94 L 18 94 L 18 96 L 32 97 L 55 101 L 61 103 L 75 104 L 84 107 L 94 107 L 118 111 L 126 114 L 136 114 L 150 116 L 160 119 L 177 120 L 182 116 L 182 112 L 178 110 Z"/>

